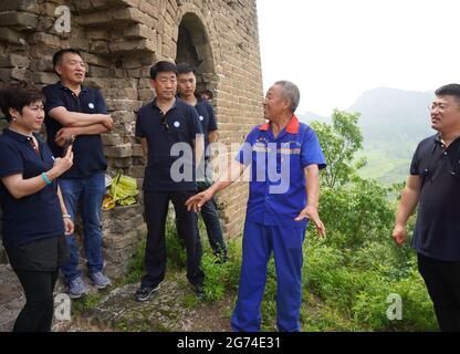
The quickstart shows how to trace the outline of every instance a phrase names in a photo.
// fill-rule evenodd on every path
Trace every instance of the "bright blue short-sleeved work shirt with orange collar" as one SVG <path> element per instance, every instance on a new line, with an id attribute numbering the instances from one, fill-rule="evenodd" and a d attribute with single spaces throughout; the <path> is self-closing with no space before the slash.
<path id="1" fill-rule="evenodd" d="M 294 115 L 274 137 L 269 123 L 260 125 L 248 135 L 237 160 L 245 166 L 251 164 L 249 221 L 265 226 L 306 226 L 306 220 L 294 220 L 307 201 L 304 168 L 310 165 L 318 165 L 320 169 L 326 167 L 320 142 L 310 126 L 300 123 Z"/>

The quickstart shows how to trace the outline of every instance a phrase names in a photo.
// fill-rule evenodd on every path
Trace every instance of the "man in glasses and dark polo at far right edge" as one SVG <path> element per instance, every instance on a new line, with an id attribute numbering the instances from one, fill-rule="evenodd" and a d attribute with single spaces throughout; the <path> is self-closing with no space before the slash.
<path id="1" fill-rule="evenodd" d="M 395 241 L 406 242 L 406 223 L 418 205 L 412 247 L 441 331 L 460 331 L 460 85 L 436 91 L 431 124 L 437 135 L 422 140 L 399 204 Z"/>

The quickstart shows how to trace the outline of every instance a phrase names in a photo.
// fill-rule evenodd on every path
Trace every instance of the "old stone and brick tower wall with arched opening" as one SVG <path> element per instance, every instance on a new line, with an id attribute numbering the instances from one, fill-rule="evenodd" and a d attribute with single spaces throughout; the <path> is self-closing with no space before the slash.
<path id="1" fill-rule="evenodd" d="M 63 19 L 60 6 L 70 10 L 70 32 L 56 28 Z M 52 54 L 69 46 L 83 52 L 86 84 L 102 88 L 115 121 L 113 132 L 103 139 L 108 173 L 123 170 L 138 178 L 139 187 L 145 160 L 134 138 L 134 124 L 136 112 L 154 97 L 149 67 L 156 61 L 188 61 L 197 66 L 198 87 L 215 92 L 221 143 L 242 143 L 248 132 L 263 122 L 255 0 L 0 2 L 0 85 L 10 81 L 39 86 L 56 82 Z M 219 198 L 227 237 L 242 230 L 247 194 L 247 184 L 239 183 Z M 134 210 L 127 216 L 113 211 L 104 218 L 123 216 L 142 223 L 142 208 Z M 117 241 L 126 231 L 122 222 L 117 225 L 114 229 L 105 223 L 104 235 L 115 239 L 105 242 L 107 254 L 111 249 L 128 247 L 129 242 L 124 247 Z M 123 263 L 123 257 L 117 260 Z"/>

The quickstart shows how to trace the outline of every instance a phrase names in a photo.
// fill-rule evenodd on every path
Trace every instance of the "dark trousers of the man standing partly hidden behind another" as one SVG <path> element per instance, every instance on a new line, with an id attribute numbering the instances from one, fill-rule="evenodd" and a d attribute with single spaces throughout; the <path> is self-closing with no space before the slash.
<path id="1" fill-rule="evenodd" d="M 197 183 L 198 191 L 203 191 L 208 189 L 210 183 Z M 217 211 L 217 202 L 212 197 L 211 200 L 205 202 L 201 207 L 201 217 L 205 222 L 206 233 L 208 235 L 209 244 L 216 256 L 221 256 L 224 259 L 227 258 L 227 244 L 223 240 L 222 228 L 220 227 L 219 214 Z M 180 235 L 180 222 L 179 218 L 176 216 L 176 229 L 177 233 Z"/>

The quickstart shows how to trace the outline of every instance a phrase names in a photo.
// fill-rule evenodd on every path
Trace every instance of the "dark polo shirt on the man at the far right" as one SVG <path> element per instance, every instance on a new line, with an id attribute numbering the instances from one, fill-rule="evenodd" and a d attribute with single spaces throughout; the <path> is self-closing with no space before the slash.
<path id="1" fill-rule="evenodd" d="M 460 261 L 460 138 L 447 148 L 438 135 L 422 140 L 410 174 L 421 178 L 412 247 L 432 259 Z"/>

